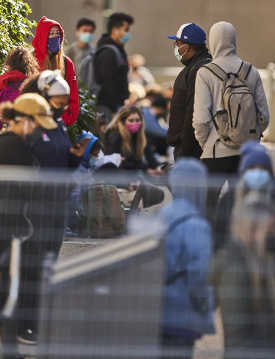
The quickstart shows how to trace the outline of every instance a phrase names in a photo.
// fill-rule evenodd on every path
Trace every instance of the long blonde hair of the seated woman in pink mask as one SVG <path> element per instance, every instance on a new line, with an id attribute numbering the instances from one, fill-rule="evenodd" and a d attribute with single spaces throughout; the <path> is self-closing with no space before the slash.
<path id="1" fill-rule="evenodd" d="M 113 129 L 119 132 L 122 138 L 122 152 L 123 155 L 126 155 L 129 152 L 132 152 L 131 146 L 131 133 L 125 126 L 125 121 L 132 114 L 138 114 L 141 119 L 141 127 L 137 133 L 137 143 L 136 143 L 136 156 L 138 160 L 142 160 L 144 155 L 144 150 L 147 145 L 145 131 L 144 131 L 144 121 L 143 116 L 138 107 L 135 106 L 126 106 L 123 107 L 117 116 L 111 121 L 107 129 Z"/>

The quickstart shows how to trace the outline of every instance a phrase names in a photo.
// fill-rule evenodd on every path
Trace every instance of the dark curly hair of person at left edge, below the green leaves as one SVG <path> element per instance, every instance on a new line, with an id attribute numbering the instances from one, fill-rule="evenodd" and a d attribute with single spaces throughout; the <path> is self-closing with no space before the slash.
<path id="1" fill-rule="evenodd" d="M 4 61 L 5 66 L 10 66 L 12 70 L 18 70 L 27 77 L 39 73 L 39 66 L 31 51 L 23 46 L 11 50 Z"/>

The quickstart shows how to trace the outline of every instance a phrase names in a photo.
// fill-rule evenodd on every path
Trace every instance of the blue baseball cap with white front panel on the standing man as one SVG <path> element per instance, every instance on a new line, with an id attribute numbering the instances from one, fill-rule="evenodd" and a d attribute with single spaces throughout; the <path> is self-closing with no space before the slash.
<path id="1" fill-rule="evenodd" d="M 187 44 L 203 45 L 206 43 L 206 33 L 196 24 L 183 24 L 177 34 L 168 36 L 168 39 L 183 41 Z"/>

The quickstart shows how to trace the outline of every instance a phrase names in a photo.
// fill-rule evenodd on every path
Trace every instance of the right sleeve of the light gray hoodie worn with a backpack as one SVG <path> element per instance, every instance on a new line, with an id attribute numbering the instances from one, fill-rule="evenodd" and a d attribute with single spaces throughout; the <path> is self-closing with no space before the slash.
<path id="1" fill-rule="evenodd" d="M 262 131 L 264 131 L 269 124 L 270 114 L 269 114 L 269 108 L 268 108 L 267 99 L 265 96 L 262 79 L 260 77 L 259 72 L 256 69 L 255 69 L 255 71 L 256 71 L 257 81 L 256 81 L 256 85 L 255 85 L 255 90 L 254 90 L 254 97 L 255 97 L 255 103 L 257 106 L 257 110 L 260 113 L 261 118 L 262 118 L 261 129 L 262 129 Z"/>

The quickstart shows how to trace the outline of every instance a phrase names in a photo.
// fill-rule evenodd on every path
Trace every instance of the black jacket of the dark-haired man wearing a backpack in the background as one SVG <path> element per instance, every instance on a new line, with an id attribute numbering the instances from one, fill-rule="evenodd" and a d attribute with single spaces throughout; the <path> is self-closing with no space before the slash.
<path id="1" fill-rule="evenodd" d="M 104 45 L 116 46 L 121 54 L 121 63 L 114 50 L 100 48 Z M 108 35 L 103 35 L 97 45 L 94 57 L 95 80 L 101 86 L 98 105 L 108 107 L 113 113 L 124 105 L 129 97 L 127 54 L 123 45 L 117 44 Z"/>

